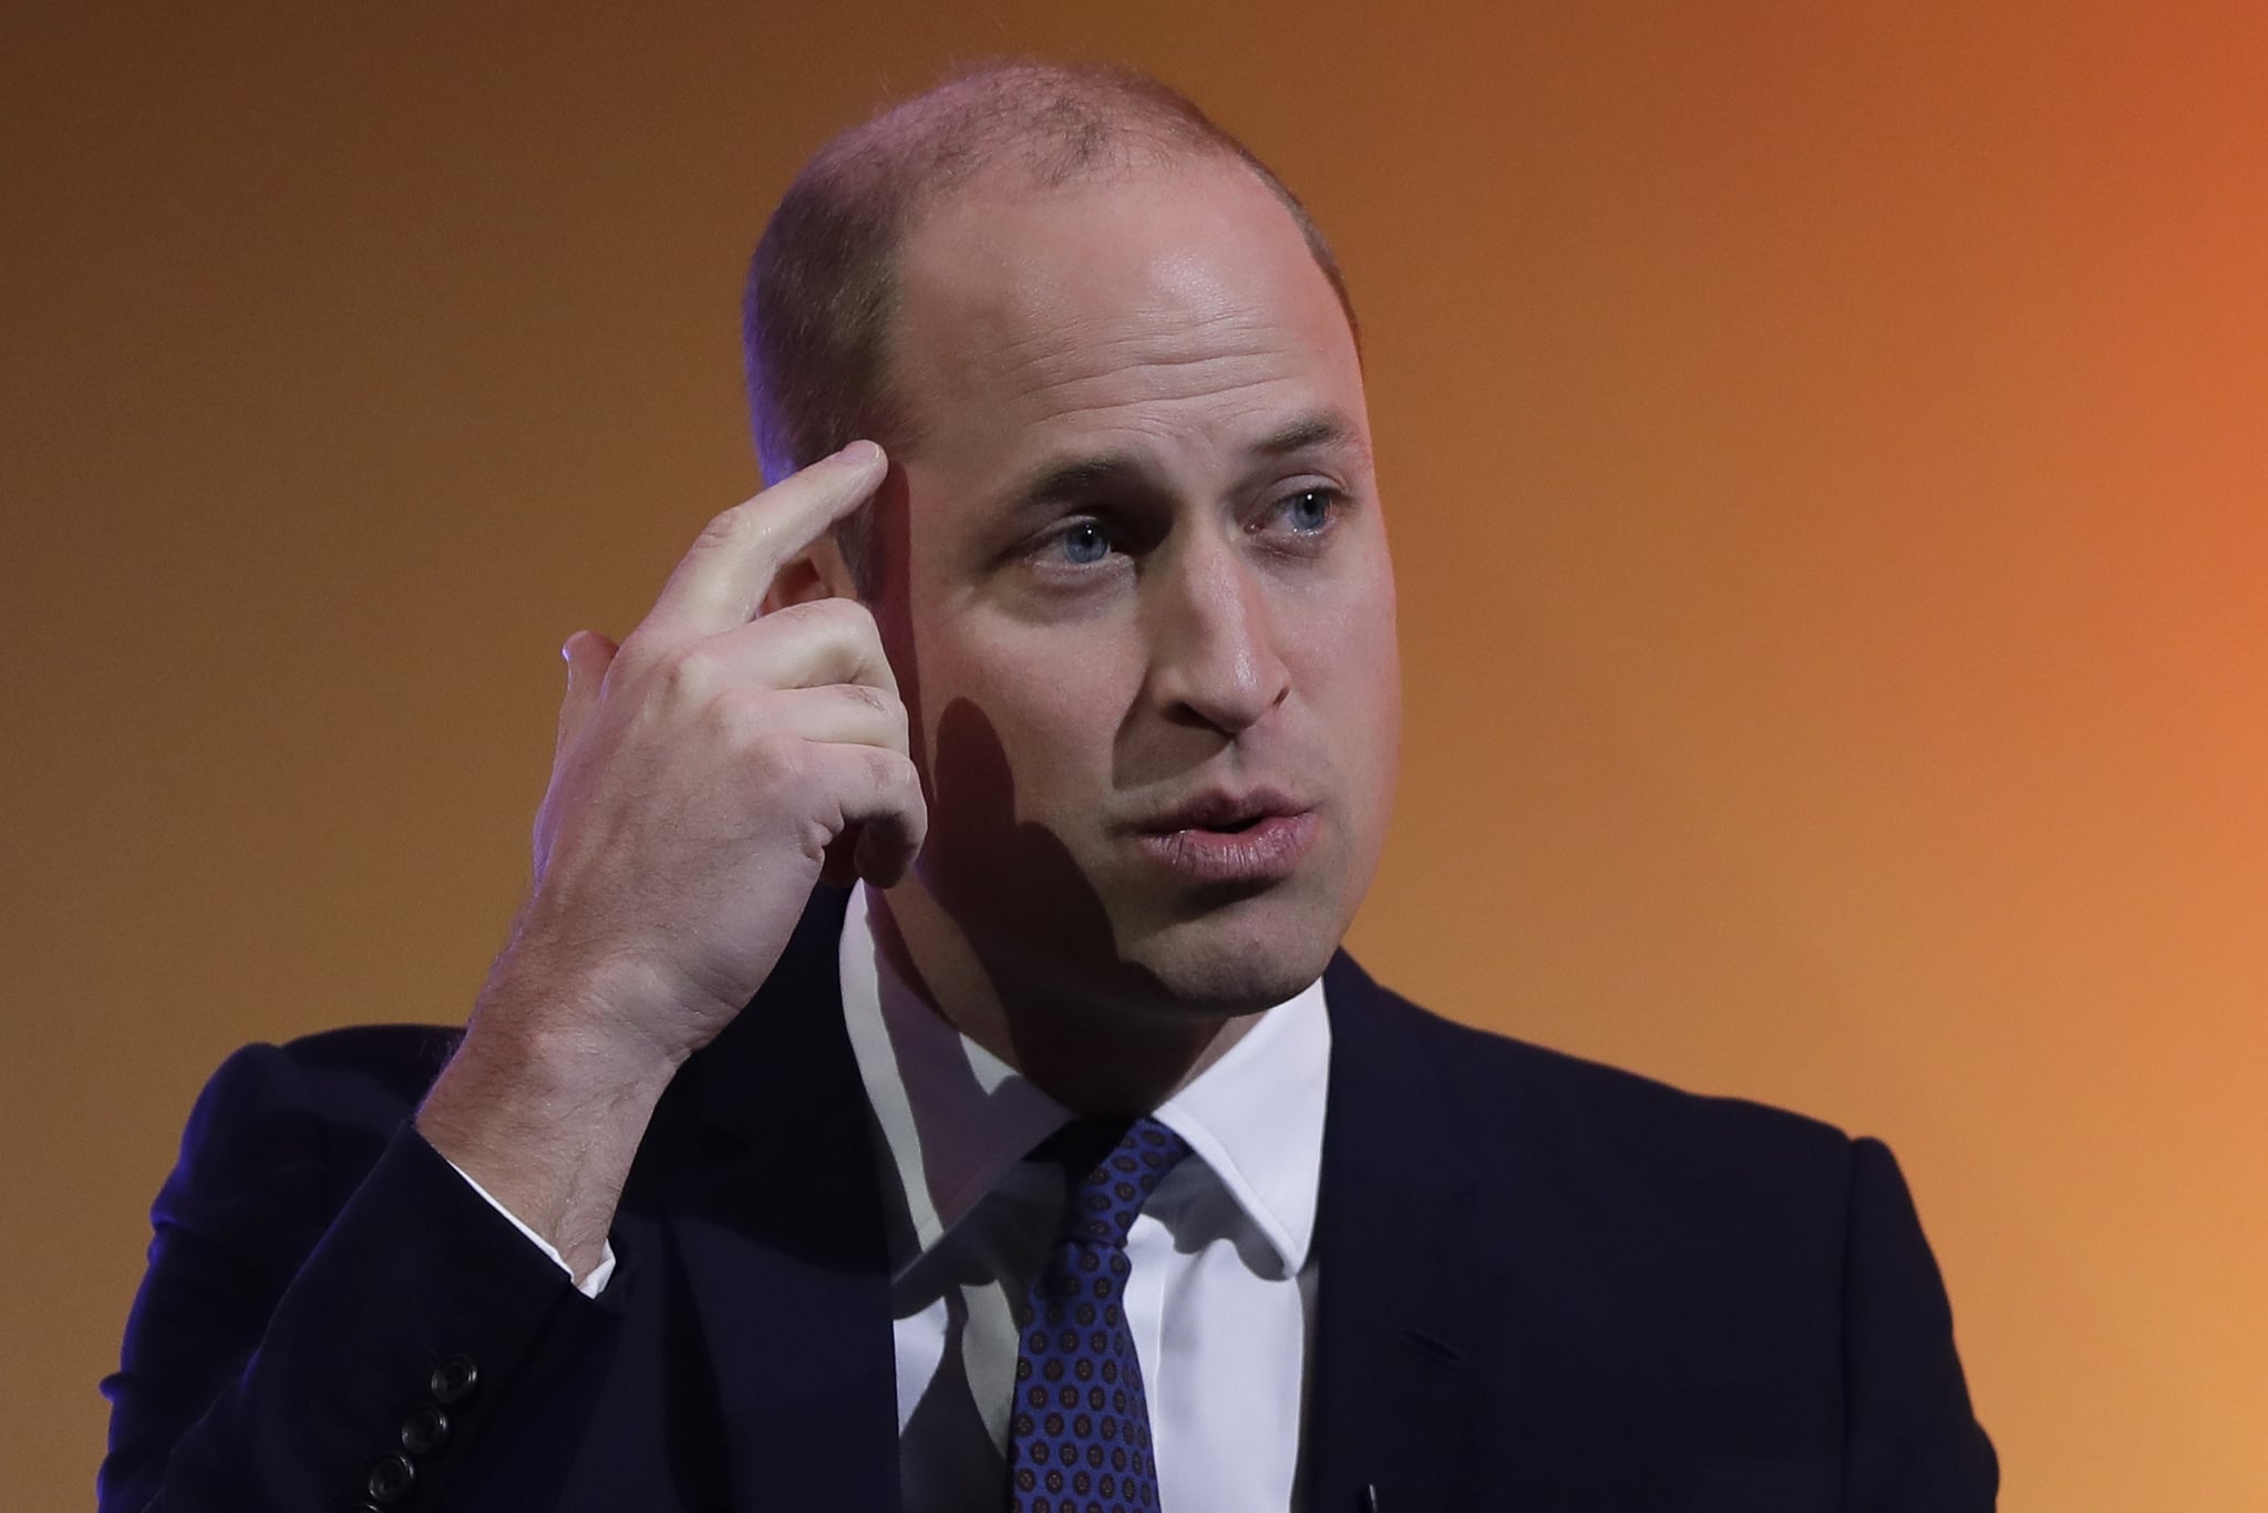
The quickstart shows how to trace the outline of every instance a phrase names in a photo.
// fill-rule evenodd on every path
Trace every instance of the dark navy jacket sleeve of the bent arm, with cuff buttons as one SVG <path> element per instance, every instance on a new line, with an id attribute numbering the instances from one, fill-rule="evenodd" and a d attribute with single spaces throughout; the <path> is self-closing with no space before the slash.
<path id="1" fill-rule="evenodd" d="M 102 1513 L 472 1506 L 531 1400 L 572 1418 L 542 1381 L 615 1316 L 424 1143 L 413 1098 L 274 1046 L 213 1075 L 104 1381 Z"/>

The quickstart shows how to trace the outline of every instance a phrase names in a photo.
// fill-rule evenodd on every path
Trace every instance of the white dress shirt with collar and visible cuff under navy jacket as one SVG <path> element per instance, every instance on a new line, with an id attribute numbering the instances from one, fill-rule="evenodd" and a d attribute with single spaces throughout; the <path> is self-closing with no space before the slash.
<path id="1" fill-rule="evenodd" d="M 1023 1157 L 1070 1114 L 914 994 L 875 946 L 864 885 L 839 950 L 889 1209 L 903 1506 L 1005 1506 L 1014 1304 L 1066 1202 L 1064 1173 Z M 1191 1148 L 1127 1234 L 1125 1309 L 1166 1513 L 1300 1504 L 1329 1059 L 1318 980 L 1154 1111 Z M 608 1245 L 578 1286 L 596 1298 L 612 1273 Z"/>

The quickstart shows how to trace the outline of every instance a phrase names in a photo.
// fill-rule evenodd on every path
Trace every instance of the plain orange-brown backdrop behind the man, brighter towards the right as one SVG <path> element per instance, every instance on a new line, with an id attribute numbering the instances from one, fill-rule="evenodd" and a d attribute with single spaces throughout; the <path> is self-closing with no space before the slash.
<path id="1" fill-rule="evenodd" d="M 91 1499 L 211 1066 L 465 1012 L 560 637 L 751 488 L 787 175 L 1039 52 L 1188 88 L 1363 306 L 1408 764 L 1356 948 L 1887 1136 L 2005 1506 L 2268 1508 L 2268 9 L 5 27 L 7 1506 Z"/>

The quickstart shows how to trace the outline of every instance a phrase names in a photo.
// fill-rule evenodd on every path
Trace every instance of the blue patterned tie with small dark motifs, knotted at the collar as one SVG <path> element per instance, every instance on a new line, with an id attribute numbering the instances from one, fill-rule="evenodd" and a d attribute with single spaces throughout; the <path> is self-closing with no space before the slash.
<path id="1" fill-rule="evenodd" d="M 1014 1513 L 1157 1511 L 1150 1402 L 1125 1311 L 1127 1232 L 1186 1155 L 1182 1136 L 1154 1118 L 1123 1134 L 1077 1123 L 1039 1150 L 1084 1175 L 1016 1313 L 1023 1343 L 1007 1447 Z"/>

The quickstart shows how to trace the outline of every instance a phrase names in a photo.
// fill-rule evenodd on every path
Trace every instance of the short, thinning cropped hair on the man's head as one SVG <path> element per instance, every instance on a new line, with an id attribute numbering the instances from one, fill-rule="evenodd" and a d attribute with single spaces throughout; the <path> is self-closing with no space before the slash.
<path id="1" fill-rule="evenodd" d="M 998 64 L 844 132 L 805 163 L 748 268 L 742 336 L 764 481 L 873 438 L 903 447 L 889 343 L 898 263 L 923 213 L 975 184 L 1027 193 L 1136 177 L 1218 157 L 1286 209 L 1354 327 L 1345 279 L 1300 200 L 1173 88 L 1120 68 Z M 841 547 L 871 588 L 864 517 Z"/>

